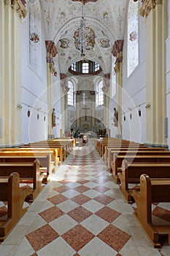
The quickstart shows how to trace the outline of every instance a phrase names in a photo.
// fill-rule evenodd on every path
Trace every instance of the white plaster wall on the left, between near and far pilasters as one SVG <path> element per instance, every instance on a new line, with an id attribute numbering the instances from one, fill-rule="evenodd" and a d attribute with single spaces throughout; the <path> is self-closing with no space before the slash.
<path id="1" fill-rule="evenodd" d="M 22 26 L 22 142 L 34 142 L 37 140 L 44 140 L 47 138 L 47 69 L 46 69 L 46 48 L 45 38 L 41 40 L 42 61 L 39 64 L 41 69 L 40 76 L 34 72 L 29 66 L 28 49 L 29 49 L 29 29 L 28 16 L 23 20 Z M 31 116 L 27 116 L 28 107 Z M 39 110 L 39 120 L 37 119 L 38 111 L 34 108 L 41 108 Z M 44 112 L 44 113 L 42 113 Z M 44 121 L 44 116 L 46 120 Z"/>

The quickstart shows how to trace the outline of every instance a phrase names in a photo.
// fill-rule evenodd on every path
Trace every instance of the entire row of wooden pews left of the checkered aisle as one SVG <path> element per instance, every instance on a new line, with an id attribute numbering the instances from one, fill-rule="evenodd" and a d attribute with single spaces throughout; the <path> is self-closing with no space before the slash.
<path id="1" fill-rule="evenodd" d="M 0 201 L 7 201 L 7 213 L 2 214 L 0 208 L 0 241 L 26 213 L 24 201 L 34 201 L 74 146 L 74 139 L 56 138 L 0 148 Z"/>

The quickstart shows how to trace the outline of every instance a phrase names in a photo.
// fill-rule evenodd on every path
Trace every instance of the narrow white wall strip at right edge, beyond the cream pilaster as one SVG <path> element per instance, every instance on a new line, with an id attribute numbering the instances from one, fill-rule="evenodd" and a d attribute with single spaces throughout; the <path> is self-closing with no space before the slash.
<path id="1" fill-rule="evenodd" d="M 168 0 L 168 35 L 166 39 L 166 113 L 168 117 L 168 138 L 170 148 L 170 0 Z"/>

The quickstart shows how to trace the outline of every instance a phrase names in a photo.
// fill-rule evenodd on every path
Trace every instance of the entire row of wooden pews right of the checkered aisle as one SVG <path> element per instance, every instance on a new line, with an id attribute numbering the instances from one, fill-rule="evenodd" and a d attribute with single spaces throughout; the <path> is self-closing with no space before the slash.
<path id="1" fill-rule="evenodd" d="M 170 204 L 170 151 L 115 138 L 97 139 L 96 149 L 125 199 L 136 203 L 134 215 L 152 244 L 159 248 L 168 236 L 170 245 L 170 225 L 152 223 L 152 203 Z"/>

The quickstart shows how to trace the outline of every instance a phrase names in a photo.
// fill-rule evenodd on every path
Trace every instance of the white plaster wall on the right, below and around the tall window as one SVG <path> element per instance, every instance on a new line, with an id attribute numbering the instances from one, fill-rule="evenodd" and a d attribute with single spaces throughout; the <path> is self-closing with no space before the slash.
<path id="1" fill-rule="evenodd" d="M 127 23 L 123 46 L 122 135 L 125 140 L 144 143 L 146 138 L 145 18 L 139 17 L 139 65 L 127 77 Z M 142 116 L 139 117 L 137 107 Z M 131 109 L 131 110 L 130 110 Z M 124 114 L 126 120 L 124 121 Z M 132 118 L 130 118 L 130 113 Z"/>

